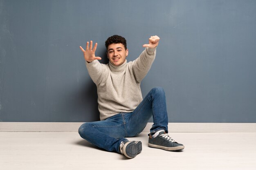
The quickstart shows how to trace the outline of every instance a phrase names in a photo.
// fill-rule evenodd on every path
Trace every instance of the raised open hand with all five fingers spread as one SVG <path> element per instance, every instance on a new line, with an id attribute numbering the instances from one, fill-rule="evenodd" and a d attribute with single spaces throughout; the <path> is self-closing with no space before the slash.
<path id="1" fill-rule="evenodd" d="M 83 51 L 83 56 L 85 61 L 92 62 L 94 60 L 101 60 L 101 57 L 95 57 L 97 42 L 95 43 L 93 49 L 92 49 L 92 41 L 90 41 L 90 47 L 89 47 L 89 42 L 86 42 L 86 49 L 84 50 L 81 46 L 80 46 L 80 49 L 81 51 Z"/>

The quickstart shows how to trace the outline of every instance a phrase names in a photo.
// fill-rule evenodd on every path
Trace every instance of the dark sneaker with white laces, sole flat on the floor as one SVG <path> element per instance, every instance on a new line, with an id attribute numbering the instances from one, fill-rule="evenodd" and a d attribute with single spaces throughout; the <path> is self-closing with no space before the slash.
<path id="1" fill-rule="evenodd" d="M 166 132 L 160 132 L 157 137 L 152 137 L 152 135 L 149 134 L 148 146 L 151 148 L 160 148 L 170 151 L 184 149 L 184 146 L 182 144 L 178 144 Z"/>

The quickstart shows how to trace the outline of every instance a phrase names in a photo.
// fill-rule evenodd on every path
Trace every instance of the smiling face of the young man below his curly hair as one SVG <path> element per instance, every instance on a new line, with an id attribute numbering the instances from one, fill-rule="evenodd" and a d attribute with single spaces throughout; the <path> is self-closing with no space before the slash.
<path id="1" fill-rule="evenodd" d="M 108 60 L 113 64 L 114 66 L 120 66 L 122 65 L 126 57 L 128 55 L 128 49 L 124 48 L 124 45 L 119 43 L 119 44 L 110 44 L 108 46 Z"/>

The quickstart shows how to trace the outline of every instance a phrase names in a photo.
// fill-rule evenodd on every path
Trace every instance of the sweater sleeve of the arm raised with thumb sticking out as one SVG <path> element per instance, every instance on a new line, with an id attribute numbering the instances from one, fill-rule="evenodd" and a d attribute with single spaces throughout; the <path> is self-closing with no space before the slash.
<path id="1" fill-rule="evenodd" d="M 142 51 L 139 57 L 134 60 L 132 71 L 137 82 L 141 82 L 142 79 L 147 75 L 151 65 L 155 60 L 155 54 L 156 47 L 154 49 L 146 47 L 146 49 Z"/>

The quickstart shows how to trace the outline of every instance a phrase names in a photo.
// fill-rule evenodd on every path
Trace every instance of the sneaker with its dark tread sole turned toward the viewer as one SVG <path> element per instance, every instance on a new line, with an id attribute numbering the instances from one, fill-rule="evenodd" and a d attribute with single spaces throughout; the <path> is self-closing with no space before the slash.
<path id="1" fill-rule="evenodd" d="M 120 152 L 128 158 L 134 158 L 142 150 L 141 141 L 126 141 L 121 142 Z"/>

